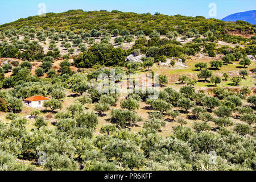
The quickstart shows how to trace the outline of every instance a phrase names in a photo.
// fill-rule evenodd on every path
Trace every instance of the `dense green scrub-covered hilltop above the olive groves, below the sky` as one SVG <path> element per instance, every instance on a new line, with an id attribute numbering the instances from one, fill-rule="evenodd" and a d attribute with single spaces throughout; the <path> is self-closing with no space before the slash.
<path id="1" fill-rule="evenodd" d="M 0 30 L 10 28 L 22 28 L 23 26 L 33 26 L 36 28 L 51 28 L 56 30 L 92 30 L 96 28 L 114 30 L 115 28 L 127 29 L 131 32 L 143 30 L 144 34 L 149 35 L 153 30 L 159 31 L 160 34 L 166 34 L 168 31 L 175 29 L 179 34 L 190 28 L 196 27 L 200 33 L 207 30 L 218 30 L 222 33 L 229 31 L 240 31 L 246 34 L 255 34 L 255 26 L 250 24 L 241 24 L 236 22 L 223 22 L 218 19 L 205 19 L 203 16 L 195 18 L 189 16 L 168 16 L 163 14 L 151 15 L 123 13 L 121 11 L 88 11 L 69 10 L 65 13 L 48 13 L 45 17 L 30 16 L 22 18 L 15 22 L 6 23 L 0 26 Z"/>

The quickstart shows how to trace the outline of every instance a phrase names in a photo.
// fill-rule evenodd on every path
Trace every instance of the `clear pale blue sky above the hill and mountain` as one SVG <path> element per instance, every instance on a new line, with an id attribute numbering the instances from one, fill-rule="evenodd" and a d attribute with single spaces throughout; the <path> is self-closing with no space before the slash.
<path id="1" fill-rule="evenodd" d="M 46 13 L 76 9 L 119 10 L 151 14 L 159 12 L 166 15 L 200 15 L 217 19 L 242 11 L 256 10 L 256 0 L 0 0 L 0 24 L 38 15 L 42 12 L 42 6 L 38 7 L 40 3 L 46 5 Z"/>

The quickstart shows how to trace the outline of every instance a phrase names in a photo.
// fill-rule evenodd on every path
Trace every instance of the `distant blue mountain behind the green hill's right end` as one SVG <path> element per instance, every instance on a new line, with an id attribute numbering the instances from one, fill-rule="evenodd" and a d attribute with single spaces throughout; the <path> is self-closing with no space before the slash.
<path id="1" fill-rule="evenodd" d="M 235 13 L 235 14 L 226 16 L 225 18 L 222 19 L 222 21 L 236 22 L 237 20 L 243 20 L 243 21 L 249 22 L 251 24 L 256 24 L 255 14 L 256 14 L 256 10 Z"/>

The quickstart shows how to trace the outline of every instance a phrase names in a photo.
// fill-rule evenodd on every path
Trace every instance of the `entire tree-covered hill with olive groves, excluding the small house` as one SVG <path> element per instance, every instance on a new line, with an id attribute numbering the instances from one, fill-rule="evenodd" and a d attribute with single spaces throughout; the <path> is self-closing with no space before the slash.
<path id="1" fill-rule="evenodd" d="M 255 44 L 255 26 L 202 16 L 71 10 L 4 24 L 0 170 L 255 170 Z M 32 108 L 32 96 L 49 100 Z"/>

